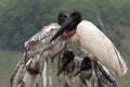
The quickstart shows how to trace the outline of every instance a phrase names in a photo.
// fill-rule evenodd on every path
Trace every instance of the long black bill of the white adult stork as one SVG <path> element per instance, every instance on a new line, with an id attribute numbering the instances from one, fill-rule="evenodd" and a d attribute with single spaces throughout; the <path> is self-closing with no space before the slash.
<path id="1" fill-rule="evenodd" d="M 51 38 L 50 42 L 56 39 L 60 35 L 62 35 L 65 30 L 68 29 L 70 24 L 73 23 L 73 20 L 68 17 L 65 23 L 61 26 L 61 28 L 56 32 L 56 34 Z"/>

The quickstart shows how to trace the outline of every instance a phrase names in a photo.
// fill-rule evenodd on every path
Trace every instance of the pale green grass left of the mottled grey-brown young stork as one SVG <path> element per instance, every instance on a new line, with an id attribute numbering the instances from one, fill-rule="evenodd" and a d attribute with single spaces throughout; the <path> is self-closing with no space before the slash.
<path id="1" fill-rule="evenodd" d="M 0 50 L 0 87 L 10 87 L 10 77 L 23 53 Z"/>

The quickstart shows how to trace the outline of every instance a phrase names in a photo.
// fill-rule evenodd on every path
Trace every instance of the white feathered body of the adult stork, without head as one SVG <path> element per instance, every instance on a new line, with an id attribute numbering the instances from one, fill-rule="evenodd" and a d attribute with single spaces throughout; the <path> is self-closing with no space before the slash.
<path id="1" fill-rule="evenodd" d="M 127 73 L 126 62 L 114 44 L 91 22 L 81 21 L 70 40 L 77 42 L 91 60 L 100 60 L 117 75 Z"/>

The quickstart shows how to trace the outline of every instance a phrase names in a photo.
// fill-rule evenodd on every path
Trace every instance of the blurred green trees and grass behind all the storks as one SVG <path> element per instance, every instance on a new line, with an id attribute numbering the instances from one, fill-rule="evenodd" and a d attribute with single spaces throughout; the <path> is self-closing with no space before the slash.
<path id="1" fill-rule="evenodd" d="M 0 0 L 0 87 L 23 57 L 24 42 L 44 25 L 56 22 L 60 11 L 80 11 L 115 44 L 130 69 L 130 0 Z M 74 47 L 77 48 L 77 47 Z M 118 78 L 130 86 L 130 71 Z"/>

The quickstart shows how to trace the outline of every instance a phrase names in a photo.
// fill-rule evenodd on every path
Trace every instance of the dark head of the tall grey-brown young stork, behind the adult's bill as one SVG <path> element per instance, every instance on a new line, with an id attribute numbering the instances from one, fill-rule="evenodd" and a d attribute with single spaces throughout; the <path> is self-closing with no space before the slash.
<path id="1" fill-rule="evenodd" d="M 58 25 L 63 25 L 63 23 L 65 22 L 65 20 L 68 17 L 69 15 L 66 13 L 66 12 L 64 12 L 64 11 L 61 11 L 60 13 L 58 13 L 58 15 L 57 15 L 57 23 L 58 23 Z"/>

